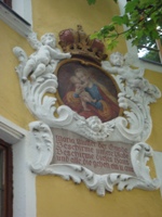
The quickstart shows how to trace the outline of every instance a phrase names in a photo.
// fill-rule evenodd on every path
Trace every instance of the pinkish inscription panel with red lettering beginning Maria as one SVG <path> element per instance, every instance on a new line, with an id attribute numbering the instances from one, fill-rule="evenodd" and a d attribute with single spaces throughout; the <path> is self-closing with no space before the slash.
<path id="1" fill-rule="evenodd" d="M 53 135 L 55 149 L 52 164 L 82 165 L 98 175 L 135 175 L 130 157 L 131 144 L 94 142 L 63 129 L 54 129 Z"/>

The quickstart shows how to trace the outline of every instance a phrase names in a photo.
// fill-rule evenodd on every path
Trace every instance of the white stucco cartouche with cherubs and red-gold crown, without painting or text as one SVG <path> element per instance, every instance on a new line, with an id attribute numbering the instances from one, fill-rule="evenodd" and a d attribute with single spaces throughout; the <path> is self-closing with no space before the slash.
<path id="1" fill-rule="evenodd" d="M 106 61 L 104 44 L 97 39 L 91 40 L 81 26 L 77 30 L 69 28 L 59 33 L 59 44 L 64 52 L 56 47 L 53 34 L 45 34 L 44 38 L 45 42 L 39 41 L 35 33 L 28 37 L 33 48 L 29 56 L 22 48 L 13 50 L 19 61 L 16 73 L 24 102 L 39 120 L 29 125 L 30 169 L 39 175 L 58 175 L 66 180 L 71 178 L 76 183 L 83 181 L 98 195 L 105 195 L 106 191 L 112 192 L 113 186 L 119 190 L 158 189 L 161 182 L 150 177 L 147 166 L 153 150 L 145 141 L 152 129 L 149 104 L 161 97 L 161 91 L 144 78 L 144 69 L 126 65 L 124 56 L 119 52 L 112 53 L 110 61 Z M 58 64 L 70 63 L 71 67 L 75 61 L 80 61 L 84 68 L 93 66 L 107 76 L 111 74 L 119 88 L 118 104 L 123 110 L 122 116 L 102 122 L 98 116 L 85 118 L 66 104 L 57 105 L 55 93 L 58 87 L 64 87 L 57 79 Z M 100 66 L 94 64 L 94 61 Z M 82 165 L 53 164 L 55 128 L 70 130 L 93 141 L 120 141 L 133 145 L 131 162 L 135 176 L 120 173 L 98 175 Z"/>

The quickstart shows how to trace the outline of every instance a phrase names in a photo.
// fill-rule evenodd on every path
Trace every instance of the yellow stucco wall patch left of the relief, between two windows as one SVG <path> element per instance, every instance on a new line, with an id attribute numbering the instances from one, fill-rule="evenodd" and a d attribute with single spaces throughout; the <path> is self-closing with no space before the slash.
<path id="1" fill-rule="evenodd" d="M 35 119 L 22 100 L 18 77 L 14 69 L 18 62 L 12 50 L 19 46 L 29 51 L 30 47 L 25 38 L 18 36 L 1 21 L 0 29 L 0 115 L 27 129 L 28 123 Z"/>

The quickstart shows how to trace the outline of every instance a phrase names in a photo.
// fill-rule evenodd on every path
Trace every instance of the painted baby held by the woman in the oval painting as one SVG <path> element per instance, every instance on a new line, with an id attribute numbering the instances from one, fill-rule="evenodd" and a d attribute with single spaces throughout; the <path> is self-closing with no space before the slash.
<path id="1" fill-rule="evenodd" d="M 90 93 L 87 91 L 84 90 L 84 88 L 86 87 L 86 84 L 82 84 L 81 80 L 77 77 L 77 76 L 71 76 L 70 77 L 70 81 L 75 85 L 75 88 L 76 88 L 76 92 L 78 93 L 80 100 L 81 100 L 81 103 L 82 103 L 82 106 L 83 106 L 83 110 L 84 111 L 90 111 L 86 106 L 86 103 L 87 102 L 96 102 L 95 99 L 93 99 Z"/>

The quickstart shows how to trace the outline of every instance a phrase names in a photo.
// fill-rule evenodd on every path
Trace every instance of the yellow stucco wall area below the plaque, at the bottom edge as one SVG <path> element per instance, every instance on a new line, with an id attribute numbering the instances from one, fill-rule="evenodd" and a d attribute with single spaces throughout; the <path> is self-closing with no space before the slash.
<path id="1" fill-rule="evenodd" d="M 158 191 L 114 190 L 100 197 L 89 191 L 83 183 L 78 186 L 57 177 L 41 177 L 37 179 L 37 184 L 38 217 L 162 216 L 162 201 Z"/>

